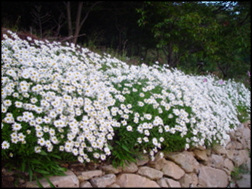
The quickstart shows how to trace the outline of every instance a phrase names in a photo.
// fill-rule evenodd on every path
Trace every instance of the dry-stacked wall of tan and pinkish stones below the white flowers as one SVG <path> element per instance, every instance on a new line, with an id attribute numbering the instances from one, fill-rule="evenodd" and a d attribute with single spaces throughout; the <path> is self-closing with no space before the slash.
<path id="1" fill-rule="evenodd" d="M 224 148 L 197 148 L 164 155 L 154 161 L 147 156 L 124 168 L 112 165 L 76 171 L 69 169 L 66 176 L 50 177 L 56 187 L 228 187 L 235 166 L 250 161 L 250 122 L 230 133 L 231 141 Z M 78 166 L 78 165 L 77 165 Z M 80 165 L 79 165 L 80 166 Z M 42 179 L 44 187 L 49 183 Z M 38 187 L 36 181 L 26 187 Z"/>

